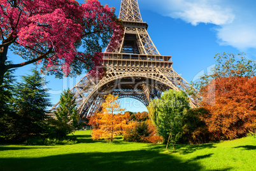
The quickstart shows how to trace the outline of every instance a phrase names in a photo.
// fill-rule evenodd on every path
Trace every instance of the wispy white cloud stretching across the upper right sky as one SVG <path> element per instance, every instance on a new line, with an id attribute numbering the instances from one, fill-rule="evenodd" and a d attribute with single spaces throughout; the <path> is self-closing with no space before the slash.
<path id="1" fill-rule="evenodd" d="M 153 0 L 147 2 L 155 4 Z M 157 3 L 154 8 L 161 15 L 180 18 L 192 25 L 218 25 L 215 31 L 220 45 L 231 45 L 240 51 L 256 49 L 255 0 L 159 0 Z"/>

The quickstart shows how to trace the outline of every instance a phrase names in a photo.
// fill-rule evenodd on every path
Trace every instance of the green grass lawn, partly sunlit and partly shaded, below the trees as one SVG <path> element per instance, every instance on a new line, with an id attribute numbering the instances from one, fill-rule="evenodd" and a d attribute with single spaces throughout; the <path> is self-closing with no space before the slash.
<path id="1" fill-rule="evenodd" d="M 93 141 L 90 131 L 75 132 L 78 144 L 0 146 L 0 170 L 256 170 L 256 139 L 216 144 L 164 145 Z"/>

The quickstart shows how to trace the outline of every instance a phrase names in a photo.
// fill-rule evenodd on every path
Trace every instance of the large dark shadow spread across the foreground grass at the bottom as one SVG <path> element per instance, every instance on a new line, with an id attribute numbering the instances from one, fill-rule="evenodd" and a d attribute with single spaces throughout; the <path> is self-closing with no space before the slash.
<path id="1" fill-rule="evenodd" d="M 210 157 L 210 156 L 205 156 Z M 15 163 L 15 165 L 13 165 Z M 72 153 L 42 158 L 1 158 L 0 170 L 201 170 L 197 159 L 182 161 L 159 151 Z M 229 170 L 224 169 L 224 170 Z"/>

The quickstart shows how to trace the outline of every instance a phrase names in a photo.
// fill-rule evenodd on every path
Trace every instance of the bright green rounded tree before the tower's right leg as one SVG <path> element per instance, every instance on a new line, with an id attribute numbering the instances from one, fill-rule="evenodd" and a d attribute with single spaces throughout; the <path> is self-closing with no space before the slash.
<path id="1" fill-rule="evenodd" d="M 153 99 L 148 106 L 148 113 L 157 127 L 157 131 L 164 138 L 164 143 L 173 144 L 181 137 L 182 117 L 190 109 L 189 100 L 185 92 L 168 90 L 161 99 Z M 166 146 L 166 149 L 167 149 Z"/>

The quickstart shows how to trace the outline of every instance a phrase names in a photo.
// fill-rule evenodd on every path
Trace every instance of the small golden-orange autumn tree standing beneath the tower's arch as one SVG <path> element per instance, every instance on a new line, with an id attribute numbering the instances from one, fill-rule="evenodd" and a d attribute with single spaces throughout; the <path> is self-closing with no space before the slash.
<path id="1" fill-rule="evenodd" d="M 113 141 L 116 135 L 121 135 L 129 125 L 129 113 L 121 114 L 122 109 L 117 102 L 118 96 L 106 95 L 101 104 L 102 110 L 90 118 L 89 124 L 94 126 L 92 139 Z"/>

